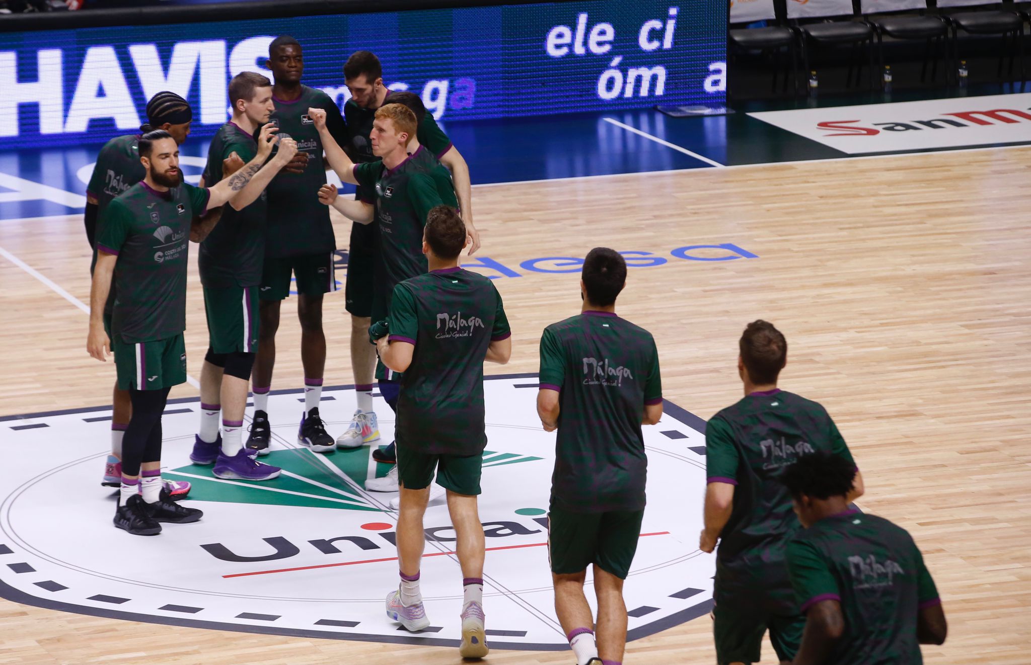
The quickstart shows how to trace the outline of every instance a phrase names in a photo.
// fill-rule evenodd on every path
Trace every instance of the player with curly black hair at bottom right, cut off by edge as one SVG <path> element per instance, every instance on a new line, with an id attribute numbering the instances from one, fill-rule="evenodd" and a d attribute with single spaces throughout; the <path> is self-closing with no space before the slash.
<path id="1" fill-rule="evenodd" d="M 805 614 L 794 665 L 920 665 L 920 644 L 947 626 L 924 557 L 905 529 L 849 509 L 856 467 L 818 452 L 780 481 L 804 527 L 788 541 L 788 569 Z"/>

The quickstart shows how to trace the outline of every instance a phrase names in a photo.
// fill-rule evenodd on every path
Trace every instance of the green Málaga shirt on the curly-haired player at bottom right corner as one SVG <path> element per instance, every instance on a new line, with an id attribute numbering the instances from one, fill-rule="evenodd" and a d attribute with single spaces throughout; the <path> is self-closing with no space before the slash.
<path id="1" fill-rule="evenodd" d="M 804 612 L 837 600 L 844 632 L 827 663 L 920 665 L 918 612 L 938 604 L 934 580 L 905 529 L 846 511 L 788 542 L 788 569 Z"/>

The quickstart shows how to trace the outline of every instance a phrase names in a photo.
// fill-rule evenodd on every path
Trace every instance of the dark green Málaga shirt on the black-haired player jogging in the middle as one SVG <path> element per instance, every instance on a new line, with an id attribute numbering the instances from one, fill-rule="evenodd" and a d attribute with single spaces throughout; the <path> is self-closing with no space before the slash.
<path id="1" fill-rule="evenodd" d="M 544 328 L 540 387 L 559 391 L 552 505 L 572 513 L 644 510 L 644 406 L 662 401 L 652 334 L 609 312 Z"/>

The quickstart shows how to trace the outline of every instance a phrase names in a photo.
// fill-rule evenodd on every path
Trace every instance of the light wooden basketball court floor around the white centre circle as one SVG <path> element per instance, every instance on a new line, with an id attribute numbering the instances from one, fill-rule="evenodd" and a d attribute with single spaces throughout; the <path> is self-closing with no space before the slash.
<path id="1" fill-rule="evenodd" d="M 751 320 L 774 322 L 789 341 L 781 386 L 826 405 L 863 470 L 861 507 L 908 529 L 938 584 L 950 634 L 924 649 L 926 662 L 1031 662 L 1029 170 L 1031 147 L 1017 147 L 476 187 L 480 254 L 520 275 L 496 281 L 514 344 L 510 364 L 488 372 L 536 372 L 541 329 L 579 309 L 576 273 L 523 270 L 522 261 L 581 257 L 597 245 L 665 257 L 632 269 L 619 303 L 657 339 L 665 396 L 703 418 L 738 399 L 737 338 Z M 337 238 L 346 230 L 338 219 Z M 670 254 L 727 243 L 756 257 Z M 77 305 L 89 300 L 80 216 L 6 220 L 0 248 L 0 416 L 109 404 L 113 367 L 87 355 Z M 189 299 L 196 377 L 207 340 L 195 266 Z M 302 379 L 293 308 L 284 306 L 273 388 Z M 327 383 L 351 383 L 342 293 L 327 296 L 325 328 Z M 196 395 L 189 384 L 172 393 Z M 0 423 L 0 441 L 9 443 L 10 424 Z M 47 454 L 3 443 L 0 451 L 5 464 Z M 700 493 L 670 488 L 648 499 L 701 511 Z M 75 501 L 91 500 L 77 495 L 66 519 L 76 519 Z M 96 537 L 110 531 L 97 524 Z M 710 663 L 710 630 L 702 616 L 633 641 L 625 662 Z M 502 650 L 489 661 L 572 662 L 568 652 Z M 764 662 L 772 661 L 767 642 Z M 153 625 L 0 599 L 0 662 L 459 658 L 439 646 Z"/>

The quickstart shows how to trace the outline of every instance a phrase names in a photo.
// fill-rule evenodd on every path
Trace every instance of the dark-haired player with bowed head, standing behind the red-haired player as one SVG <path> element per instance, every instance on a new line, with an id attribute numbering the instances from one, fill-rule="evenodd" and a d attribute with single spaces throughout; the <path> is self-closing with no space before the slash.
<path id="1" fill-rule="evenodd" d="M 343 78 L 352 97 L 343 105 L 343 114 L 347 122 L 347 142 L 342 144 L 342 147 L 351 160 L 357 164 L 364 164 L 378 159 L 372 151 L 370 135 L 375 112 L 379 107 L 388 103 L 399 103 L 410 108 L 417 116 L 417 130 L 409 144 L 409 151 L 428 160 L 439 160 L 451 170 L 462 217 L 470 235 L 469 254 L 474 253 L 479 248 L 479 234 L 472 223 L 469 168 L 458 148 L 440 131 L 433 116 L 427 115 L 422 100 L 413 93 L 389 91 L 383 82 L 379 59 L 367 50 L 356 51 L 347 59 L 343 66 Z M 427 116 L 425 119 L 424 115 Z M 425 146 L 425 153 L 420 153 L 418 150 L 420 144 Z M 356 199 L 362 198 L 371 198 L 371 195 L 367 195 L 359 187 Z M 345 295 L 352 323 L 351 362 L 355 375 L 355 390 L 358 393 L 358 411 L 361 413 L 355 413 L 351 426 L 337 439 L 337 446 L 340 448 L 361 446 L 379 439 L 378 422 L 372 411 L 375 350 L 365 343 L 372 322 L 375 246 L 374 229 L 362 224 L 352 225 Z M 375 450 L 372 455 L 376 460 L 384 462 L 394 462 L 396 459 L 393 445 Z"/>

